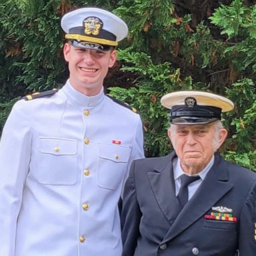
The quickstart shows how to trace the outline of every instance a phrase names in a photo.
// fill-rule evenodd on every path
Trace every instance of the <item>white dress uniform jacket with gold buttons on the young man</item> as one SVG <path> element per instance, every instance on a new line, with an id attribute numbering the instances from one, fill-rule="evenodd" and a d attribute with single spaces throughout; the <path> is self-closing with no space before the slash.
<path id="1" fill-rule="evenodd" d="M 18 101 L 0 144 L 1 256 L 118 256 L 117 202 L 143 157 L 139 115 L 67 81 Z"/>

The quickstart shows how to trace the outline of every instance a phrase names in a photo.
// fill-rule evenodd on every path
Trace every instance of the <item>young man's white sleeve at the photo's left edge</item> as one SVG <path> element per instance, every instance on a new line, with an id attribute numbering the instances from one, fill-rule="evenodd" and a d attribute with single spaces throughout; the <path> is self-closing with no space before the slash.
<path id="1" fill-rule="evenodd" d="M 15 255 L 17 217 L 31 155 L 29 117 L 17 102 L 5 123 L 0 141 L 0 255 Z"/>

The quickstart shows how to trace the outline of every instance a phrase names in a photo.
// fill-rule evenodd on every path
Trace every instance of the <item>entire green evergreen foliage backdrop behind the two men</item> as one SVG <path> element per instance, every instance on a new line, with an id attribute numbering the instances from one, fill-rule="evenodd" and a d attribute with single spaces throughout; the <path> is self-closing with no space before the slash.
<path id="1" fill-rule="evenodd" d="M 171 150 L 161 97 L 171 91 L 197 89 L 234 101 L 235 110 L 223 116 L 229 137 L 221 153 L 256 170 L 253 1 L 2 0 L 0 129 L 19 96 L 65 83 L 68 71 L 60 19 L 81 6 L 113 11 L 129 26 L 129 36 L 119 45 L 117 66 L 110 70 L 105 86 L 113 97 L 141 113 L 148 157 Z"/>

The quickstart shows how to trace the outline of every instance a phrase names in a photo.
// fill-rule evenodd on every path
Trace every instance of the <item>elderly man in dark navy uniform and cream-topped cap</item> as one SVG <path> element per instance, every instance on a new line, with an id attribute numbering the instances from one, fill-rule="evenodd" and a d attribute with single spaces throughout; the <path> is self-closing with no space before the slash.
<path id="1" fill-rule="evenodd" d="M 171 109 L 165 157 L 133 162 L 123 194 L 123 256 L 255 256 L 256 175 L 225 161 L 221 112 L 233 103 L 181 91 Z"/>

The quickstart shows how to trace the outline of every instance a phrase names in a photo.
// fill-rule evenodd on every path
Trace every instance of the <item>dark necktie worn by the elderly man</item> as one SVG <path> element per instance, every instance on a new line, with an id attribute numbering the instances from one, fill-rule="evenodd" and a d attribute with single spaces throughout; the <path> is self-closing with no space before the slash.
<path id="1" fill-rule="evenodd" d="M 179 199 L 179 204 L 181 205 L 181 209 L 184 207 L 184 205 L 187 203 L 189 198 L 189 191 L 187 189 L 187 186 L 197 181 L 197 179 L 200 179 L 199 176 L 188 176 L 188 175 L 181 175 L 181 188 L 179 189 L 179 194 L 177 195 Z"/>

